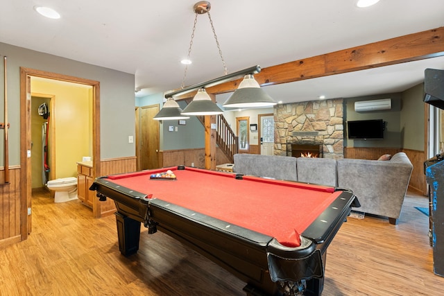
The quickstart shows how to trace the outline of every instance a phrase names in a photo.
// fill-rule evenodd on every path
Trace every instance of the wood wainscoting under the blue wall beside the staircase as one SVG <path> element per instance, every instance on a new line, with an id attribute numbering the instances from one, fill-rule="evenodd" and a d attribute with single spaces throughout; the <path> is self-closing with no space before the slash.
<path id="1" fill-rule="evenodd" d="M 232 160 L 216 148 L 216 165 L 230 164 Z M 159 153 L 159 164 L 162 168 L 168 166 L 191 166 L 196 168 L 205 168 L 205 148 L 180 149 L 180 150 L 162 150 Z"/>

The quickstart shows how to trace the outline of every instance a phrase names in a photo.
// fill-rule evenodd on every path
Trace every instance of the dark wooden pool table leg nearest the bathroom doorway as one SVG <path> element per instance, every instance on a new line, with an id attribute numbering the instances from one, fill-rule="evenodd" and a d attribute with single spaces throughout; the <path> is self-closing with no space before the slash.
<path id="1" fill-rule="evenodd" d="M 115 213 L 119 250 L 124 256 L 130 256 L 139 250 L 140 222 Z"/>

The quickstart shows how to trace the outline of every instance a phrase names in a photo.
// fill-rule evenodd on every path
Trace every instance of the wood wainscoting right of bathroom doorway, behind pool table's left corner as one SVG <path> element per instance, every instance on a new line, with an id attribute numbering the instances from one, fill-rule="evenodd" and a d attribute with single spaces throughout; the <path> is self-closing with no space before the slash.
<path id="1" fill-rule="evenodd" d="M 119 173 L 129 173 L 137 170 L 137 157 L 120 157 L 112 159 L 101 159 L 100 170 L 96 177 L 113 175 Z M 107 198 L 106 201 L 101 202 L 99 198 L 94 200 L 93 214 L 94 218 L 101 218 L 110 216 L 116 211 L 114 200 Z"/>

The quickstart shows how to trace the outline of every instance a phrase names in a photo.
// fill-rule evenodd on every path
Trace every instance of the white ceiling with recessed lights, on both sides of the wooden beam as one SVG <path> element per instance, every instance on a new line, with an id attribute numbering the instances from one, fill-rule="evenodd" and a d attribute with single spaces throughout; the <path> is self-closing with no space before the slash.
<path id="1" fill-rule="evenodd" d="M 210 10 L 229 73 L 262 68 L 444 26 L 443 0 L 212 0 Z M 0 42 L 135 74 L 137 96 L 178 89 L 196 0 L 1 0 Z M 33 6 L 56 9 L 46 19 Z M 1 53 L 0 53 L 1 54 Z M 223 75 L 207 15 L 199 15 L 185 85 Z M 400 92 L 444 69 L 433 58 L 264 89 L 284 103 Z M 219 103 L 227 95 L 218 96 Z"/>

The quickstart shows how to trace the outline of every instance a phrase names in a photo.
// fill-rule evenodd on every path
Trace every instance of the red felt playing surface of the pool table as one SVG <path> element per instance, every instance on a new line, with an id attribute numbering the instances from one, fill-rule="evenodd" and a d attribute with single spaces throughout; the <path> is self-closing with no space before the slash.
<path id="1" fill-rule="evenodd" d="M 177 180 L 150 180 L 173 171 Z M 299 235 L 341 194 L 333 187 L 177 167 L 108 176 L 111 182 L 297 247 Z"/>

